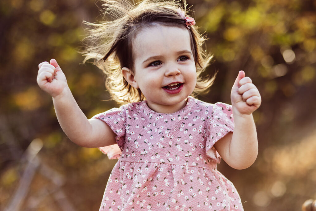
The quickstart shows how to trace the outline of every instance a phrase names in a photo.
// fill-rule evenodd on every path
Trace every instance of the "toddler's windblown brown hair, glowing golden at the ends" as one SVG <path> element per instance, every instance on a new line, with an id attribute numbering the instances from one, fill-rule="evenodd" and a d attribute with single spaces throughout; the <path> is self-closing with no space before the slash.
<path id="1" fill-rule="evenodd" d="M 86 46 L 83 53 L 84 62 L 94 59 L 97 65 L 106 74 L 106 88 L 111 97 L 118 103 L 138 102 L 144 99 L 140 89 L 135 89 L 127 83 L 121 69 L 127 67 L 133 71 L 134 58 L 132 41 L 137 33 L 154 24 L 186 28 L 185 20 L 181 18 L 177 9 L 185 3 L 178 1 L 168 2 L 158 0 L 144 0 L 135 4 L 128 0 L 101 0 L 103 15 L 112 17 L 113 20 L 97 23 L 89 23 L 88 37 L 90 44 Z M 186 13 L 186 11 L 185 11 Z M 205 37 L 202 36 L 196 26 L 190 26 L 191 50 L 197 69 L 197 83 L 191 94 L 204 92 L 213 84 L 215 75 L 212 78 L 202 76 L 201 73 L 209 64 L 212 56 L 205 53 L 202 45 Z"/>

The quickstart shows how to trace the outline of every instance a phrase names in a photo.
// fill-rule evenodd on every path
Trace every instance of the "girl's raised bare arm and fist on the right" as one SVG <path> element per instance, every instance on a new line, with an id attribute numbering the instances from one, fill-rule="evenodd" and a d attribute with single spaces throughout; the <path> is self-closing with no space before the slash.
<path id="1" fill-rule="evenodd" d="M 251 166 L 258 155 L 258 138 L 252 112 L 259 108 L 261 96 L 245 72 L 240 71 L 231 92 L 234 133 L 215 143 L 223 160 L 235 169 Z"/>

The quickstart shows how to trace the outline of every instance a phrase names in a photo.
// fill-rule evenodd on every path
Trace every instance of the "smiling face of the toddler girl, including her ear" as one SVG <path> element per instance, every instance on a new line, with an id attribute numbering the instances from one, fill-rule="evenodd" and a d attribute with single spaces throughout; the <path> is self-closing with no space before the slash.
<path id="1" fill-rule="evenodd" d="M 189 31 L 185 28 L 153 26 L 143 29 L 133 41 L 133 82 L 159 113 L 182 109 L 196 85 L 196 67 Z"/>

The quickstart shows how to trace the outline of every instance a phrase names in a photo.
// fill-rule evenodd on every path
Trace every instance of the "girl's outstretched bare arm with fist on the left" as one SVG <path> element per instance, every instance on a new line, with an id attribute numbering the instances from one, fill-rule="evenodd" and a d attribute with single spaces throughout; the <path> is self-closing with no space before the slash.
<path id="1" fill-rule="evenodd" d="M 84 147 L 115 144 L 115 133 L 105 122 L 83 114 L 55 59 L 39 64 L 37 83 L 52 96 L 58 122 L 71 141 Z"/>

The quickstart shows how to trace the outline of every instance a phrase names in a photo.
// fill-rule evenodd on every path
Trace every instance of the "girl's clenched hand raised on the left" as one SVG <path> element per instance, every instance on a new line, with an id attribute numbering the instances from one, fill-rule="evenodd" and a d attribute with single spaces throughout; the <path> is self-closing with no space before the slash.
<path id="1" fill-rule="evenodd" d="M 60 95 L 64 88 L 68 87 L 66 76 L 55 59 L 51 59 L 50 63 L 42 62 L 39 64 L 36 80 L 40 88 L 52 97 Z"/>

